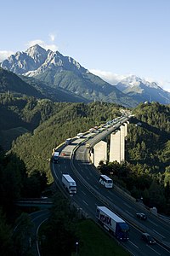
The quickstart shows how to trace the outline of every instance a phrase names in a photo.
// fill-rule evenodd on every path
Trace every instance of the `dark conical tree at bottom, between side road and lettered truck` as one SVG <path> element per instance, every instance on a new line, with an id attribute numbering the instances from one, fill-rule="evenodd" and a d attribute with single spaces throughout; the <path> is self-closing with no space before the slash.
<path id="1" fill-rule="evenodd" d="M 71 212 L 70 204 L 59 194 L 54 197 L 51 217 L 42 232 L 43 255 L 71 255 L 77 241 L 75 213 Z M 45 238 L 45 239 L 44 239 Z"/>

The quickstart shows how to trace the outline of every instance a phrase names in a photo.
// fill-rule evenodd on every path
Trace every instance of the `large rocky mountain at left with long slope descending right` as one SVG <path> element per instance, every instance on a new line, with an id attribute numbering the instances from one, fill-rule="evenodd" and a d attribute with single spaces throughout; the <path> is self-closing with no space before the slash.
<path id="1" fill-rule="evenodd" d="M 17 52 L 1 63 L 1 67 L 39 79 L 49 86 L 71 91 L 88 101 L 116 102 L 134 107 L 137 102 L 125 96 L 111 84 L 88 72 L 77 61 L 59 51 L 42 49 L 34 45 L 26 52 Z"/>

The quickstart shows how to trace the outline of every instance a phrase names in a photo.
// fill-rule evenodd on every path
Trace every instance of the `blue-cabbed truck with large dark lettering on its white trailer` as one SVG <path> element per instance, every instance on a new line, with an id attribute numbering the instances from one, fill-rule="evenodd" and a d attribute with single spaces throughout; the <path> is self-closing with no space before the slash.
<path id="1" fill-rule="evenodd" d="M 118 217 L 114 212 L 111 212 L 107 207 L 97 207 L 96 218 L 99 224 L 104 226 L 113 236 L 122 241 L 128 240 L 129 226 Z"/>

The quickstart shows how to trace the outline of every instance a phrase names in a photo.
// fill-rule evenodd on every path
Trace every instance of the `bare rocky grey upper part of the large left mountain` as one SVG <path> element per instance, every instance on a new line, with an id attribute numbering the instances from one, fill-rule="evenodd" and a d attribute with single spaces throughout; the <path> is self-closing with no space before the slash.
<path id="1" fill-rule="evenodd" d="M 26 49 L 26 52 L 18 51 L 15 55 L 10 55 L 7 60 L 1 62 L 0 66 L 26 76 L 36 76 L 50 68 L 54 68 L 58 72 L 63 69 L 88 72 L 71 57 L 61 55 L 59 51 L 43 49 L 38 44 Z"/>

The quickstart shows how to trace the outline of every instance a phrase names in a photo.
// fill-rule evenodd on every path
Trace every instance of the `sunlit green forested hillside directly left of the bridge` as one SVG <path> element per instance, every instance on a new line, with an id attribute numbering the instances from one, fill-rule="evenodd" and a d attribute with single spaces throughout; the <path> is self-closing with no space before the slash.
<path id="1" fill-rule="evenodd" d="M 49 160 L 52 148 L 64 143 L 68 137 L 77 136 L 78 132 L 88 131 L 90 127 L 105 123 L 107 119 L 114 119 L 121 115 L 121 106 L 109 103 L 51 103 L 46 105 L 37 102 L 30 108 L 26 117 L 36 112 L 37 106 L 42 104 L 42 124 L 32 132 L 18 137 L 13 143 L 12 152 L 20 155 L 26 163 L 27 171 L 45 170 L 50 177 Z M 48 108 L 46 108 L 48 107 Z M 50 110 L 49 110 L 50 109 Z M 46 110 L 46 111 L 45 111 Z M 39 110 L 40 111 L 40 110 Z M 44 116 L 42 115 L 44 114 Z"/>

